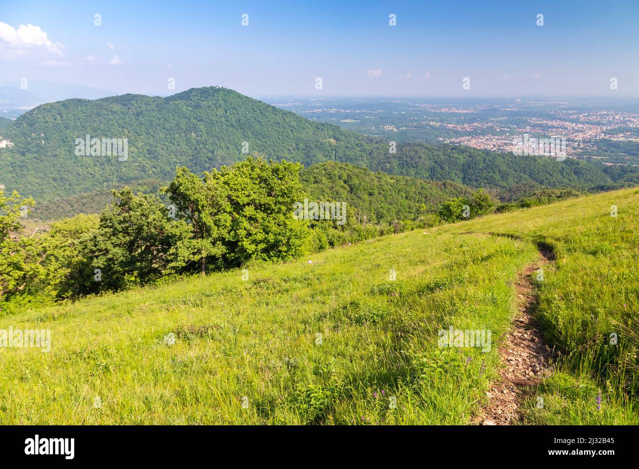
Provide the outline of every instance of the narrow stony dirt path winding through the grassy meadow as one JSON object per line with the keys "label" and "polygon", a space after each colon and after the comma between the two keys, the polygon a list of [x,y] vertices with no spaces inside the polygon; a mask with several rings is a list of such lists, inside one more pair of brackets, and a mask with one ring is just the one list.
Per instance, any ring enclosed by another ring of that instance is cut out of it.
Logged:
{"label": "narrow stony dirt path winding through the grassy meadow", "polygon": [[500,379],[486,393],[488,405],[475,419],[477,424],[511,425],[520,421],[518,409],[527,387],[539,383],[548,368],[550,350],[534,318],[537,294],[530,276],[538,275],[535,272],[554,260],[554,255],[544,246],[539,247],[539,253],[541,259],[528,265],[515,280],[519,311],[511,330],[502,336],[499,350],[505,366],[499,371]]}

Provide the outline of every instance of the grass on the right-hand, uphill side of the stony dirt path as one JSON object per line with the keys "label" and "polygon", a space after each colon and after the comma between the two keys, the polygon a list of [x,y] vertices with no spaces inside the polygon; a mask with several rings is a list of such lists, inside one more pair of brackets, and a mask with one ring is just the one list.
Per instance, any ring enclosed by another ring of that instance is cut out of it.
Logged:
{"label": "grass on the right-hand, uphill side of the stony dirt path", "polygon": [[472,230],[530,239],[557,257],[537,282],[537,317],[560,358],[525,422],[639,424],[639,190],[489,216]]}

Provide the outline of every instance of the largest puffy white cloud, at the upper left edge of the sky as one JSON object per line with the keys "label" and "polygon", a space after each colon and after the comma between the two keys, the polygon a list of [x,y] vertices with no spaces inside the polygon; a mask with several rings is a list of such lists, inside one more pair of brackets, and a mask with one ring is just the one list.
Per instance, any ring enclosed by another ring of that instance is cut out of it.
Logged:
{"label": "largest puffy white cloud, at the upper left edge of the sky", "polygon": [[21,24],[18,29],[0,21],[0,56],[8,58],[33,58],[42,56],[63,57],[65,46],[53,42],[40,26]]}

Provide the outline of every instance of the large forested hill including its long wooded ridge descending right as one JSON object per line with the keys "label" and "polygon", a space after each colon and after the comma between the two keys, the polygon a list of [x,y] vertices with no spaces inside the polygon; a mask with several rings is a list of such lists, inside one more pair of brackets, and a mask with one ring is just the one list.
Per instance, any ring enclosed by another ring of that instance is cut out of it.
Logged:
{"label": "large forested hill including its long wooded ridge descending right", "polygon": [[[127,138],[126,161],[118,156],[78,156],[75,140],[86,135]],[[194,88],[167,98],[125,94],[47,103],[2,128],[0,139],[13,144],[0,149],[0,184],[36,200],[130,181],[169,181],[178,165],[201,172],[243,160],[247,153],[300,161],[306,167],[342,161],[474,187],[508,188],[535,181],[586,188],[635,177],[610,177],[594,163],[448,145],[398,144],[397,153],[391,154],[389,142],[310,121],[221,87]]]}

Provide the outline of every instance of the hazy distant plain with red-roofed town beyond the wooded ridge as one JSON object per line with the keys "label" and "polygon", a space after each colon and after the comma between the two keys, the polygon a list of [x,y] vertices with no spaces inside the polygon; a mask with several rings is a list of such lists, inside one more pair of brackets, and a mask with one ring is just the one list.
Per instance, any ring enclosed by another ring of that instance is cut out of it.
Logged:
{"label": "hazy distant plain with red-roofed town beyond the wooded ridge", "polygon": [[512,152],[513,140],[565,138],[566,157],[639,165],[639,109],[621,101],[287,98],[265,101],[367,135]]}

